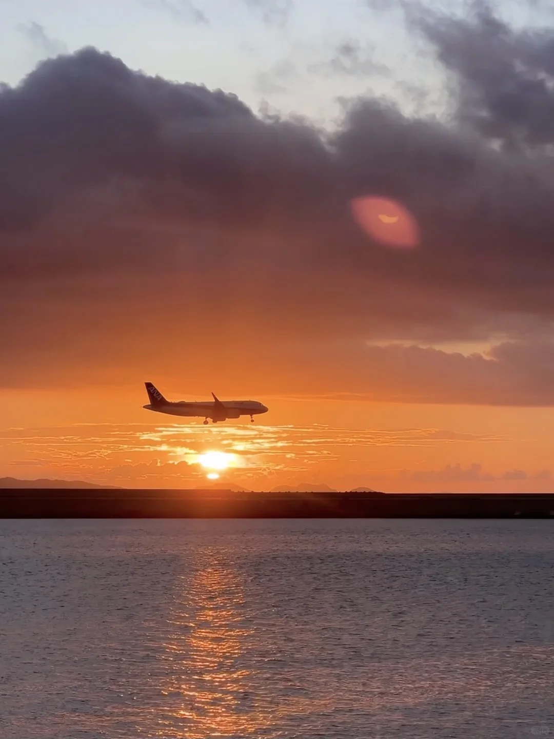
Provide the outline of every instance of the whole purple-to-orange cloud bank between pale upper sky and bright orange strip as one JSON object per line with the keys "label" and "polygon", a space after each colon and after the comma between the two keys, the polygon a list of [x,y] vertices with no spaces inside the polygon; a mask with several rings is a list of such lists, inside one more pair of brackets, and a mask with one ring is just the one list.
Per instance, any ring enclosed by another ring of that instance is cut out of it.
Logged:
{"label": "whole purple-to-orange cloud bank between pale upper sky and bright orange strip", "polygon": [[[553,403],[554,33],[484,3],[408,24],[451,75],[448,122],[365,98],[321,132],[94,49],[0,89],[0,385],[186,360],[197,389],[217,367],[263,392]],[[420,247],[361,233],[360,194],[408,207]]]}

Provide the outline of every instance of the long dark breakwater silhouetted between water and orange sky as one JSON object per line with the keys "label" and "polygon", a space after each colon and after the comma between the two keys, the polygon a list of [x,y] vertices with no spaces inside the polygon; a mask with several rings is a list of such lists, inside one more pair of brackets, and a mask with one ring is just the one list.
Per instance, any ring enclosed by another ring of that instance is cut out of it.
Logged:
{"label": "long dark breakwater silhouetted between water and orange sky", "polygon": [[554,494],[4,488],[0,518],[553,518]]}

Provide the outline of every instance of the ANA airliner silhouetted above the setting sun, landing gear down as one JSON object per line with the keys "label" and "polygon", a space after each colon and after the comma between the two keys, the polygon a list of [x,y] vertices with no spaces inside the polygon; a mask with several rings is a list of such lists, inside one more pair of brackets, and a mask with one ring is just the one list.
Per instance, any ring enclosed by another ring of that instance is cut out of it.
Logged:
{"label": "ANA airliner silhouetted above the setting sun, landing gear down", "polygon": [[227,420],[228,418],[239,418],[242,415],[249,415],[252,423],[254,416],[260,413],[267,413],[269,410],[258,401],[220,401],[212,392],[212,401],[207,403],[178,401],[166,401],[160,390],[154,387],[151,382],[145,382],[146,392],[150,403],[143,406],[148,411],[157,411],[158,413],[167,413],[168,415],[186,416],[188,418],[204,416],[204,423],[208,423],[211,418],[213,423],[219,420]]}

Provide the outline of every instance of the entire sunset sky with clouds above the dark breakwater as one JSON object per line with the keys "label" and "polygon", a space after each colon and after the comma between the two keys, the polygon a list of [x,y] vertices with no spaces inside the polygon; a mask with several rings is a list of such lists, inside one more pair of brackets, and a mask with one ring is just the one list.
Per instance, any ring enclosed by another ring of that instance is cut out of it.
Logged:
{"label": "entire sunset sky with clouds above the dark breakwater", "polygon": [[552,8],[0,0],[0,258],[0,477],[550,491]]}

